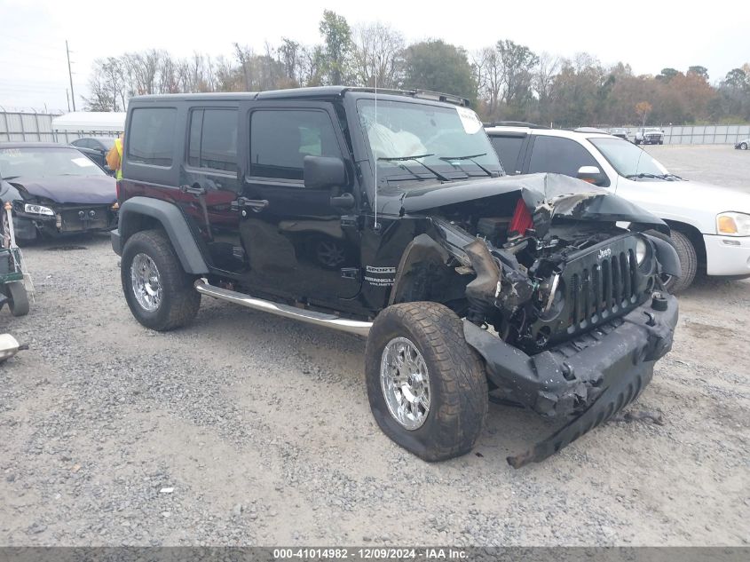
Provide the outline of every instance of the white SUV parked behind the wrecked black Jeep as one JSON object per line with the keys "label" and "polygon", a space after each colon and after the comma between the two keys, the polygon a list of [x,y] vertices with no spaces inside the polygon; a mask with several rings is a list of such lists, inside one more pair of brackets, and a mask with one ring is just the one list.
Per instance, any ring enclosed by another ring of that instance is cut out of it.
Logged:
{"label": "white SUV parked behind the wrecked black Jeep", "polygon": [[683,269],[679,280],[669,281],[673,292],[688,287],[699,271],[750,277],[750,194],[679,178],[640,147],[604,131],[486,131],[509,174],[557,172],[585,179],[666,221]]}

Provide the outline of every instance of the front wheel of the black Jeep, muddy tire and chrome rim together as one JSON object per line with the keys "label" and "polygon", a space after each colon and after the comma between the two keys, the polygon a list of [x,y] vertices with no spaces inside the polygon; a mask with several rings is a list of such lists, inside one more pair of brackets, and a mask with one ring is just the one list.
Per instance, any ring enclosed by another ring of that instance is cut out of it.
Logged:
{"label": "front wheel of the black Jeep, muddy tire and chrome rim together", "polygon": [[450,309],[389,306],[375,318],[365,360],[370,408],[388,437],[425,461],[471,450],[487,412],[486,374]]}

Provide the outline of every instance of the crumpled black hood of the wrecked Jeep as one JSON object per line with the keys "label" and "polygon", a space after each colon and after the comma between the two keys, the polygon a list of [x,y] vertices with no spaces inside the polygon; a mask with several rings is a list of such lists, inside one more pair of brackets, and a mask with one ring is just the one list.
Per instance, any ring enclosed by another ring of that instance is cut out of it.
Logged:
{"label": "crumpled black hood of the wrecked Jeep", "polygon": [[383,214],[418,213],[493,195],[520,192],[534,225],[556,217],[606,222],[635,222],[665,230],[665,223],[603,187],[562,174],[528,174],[455,181],[433,186],[389,186],[378,192]]}

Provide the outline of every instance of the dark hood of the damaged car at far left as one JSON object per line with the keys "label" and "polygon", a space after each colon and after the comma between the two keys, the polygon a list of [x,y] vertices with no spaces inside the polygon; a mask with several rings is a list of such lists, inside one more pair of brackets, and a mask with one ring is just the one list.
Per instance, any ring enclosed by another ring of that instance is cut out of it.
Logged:
{"label": "dark hood of the damaged car at far left", "polygon": [[110,176],[48,176],[6,180],[28,194],[57,203],[114,203],[115,180]]}

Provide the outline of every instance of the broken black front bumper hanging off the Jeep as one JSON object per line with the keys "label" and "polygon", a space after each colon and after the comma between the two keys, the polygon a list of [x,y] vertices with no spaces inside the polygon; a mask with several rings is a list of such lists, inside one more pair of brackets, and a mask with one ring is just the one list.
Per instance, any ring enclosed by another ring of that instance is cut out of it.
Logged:
{"label": "broken black front bumper hanging off the Jeep", "polygon": [[518,468],[553,455],[628,405],[649,384],[654,363],[672,348],[677,300],[656,297],[564,344],[529,356],[464,321],[466,341],[486,362],[487,376],[509,400],[541,416],[573,416],[522,455]]}

